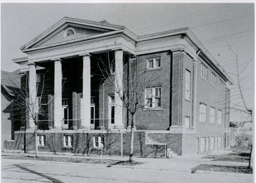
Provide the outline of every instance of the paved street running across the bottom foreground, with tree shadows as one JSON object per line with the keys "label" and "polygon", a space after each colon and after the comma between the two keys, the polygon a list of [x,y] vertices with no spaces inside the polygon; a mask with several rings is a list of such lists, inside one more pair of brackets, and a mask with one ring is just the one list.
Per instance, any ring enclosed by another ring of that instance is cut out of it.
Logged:
{"label": "paved street running across the bottom foreground, with tree shadows", "polygon": [[[153,167],[152,167],[153,168]],[[252,182],[252,175],[241,173],[190,173],[132,169],[80,163],[59,163],[34,160],[2,159],[3,183],[40,182]]]}

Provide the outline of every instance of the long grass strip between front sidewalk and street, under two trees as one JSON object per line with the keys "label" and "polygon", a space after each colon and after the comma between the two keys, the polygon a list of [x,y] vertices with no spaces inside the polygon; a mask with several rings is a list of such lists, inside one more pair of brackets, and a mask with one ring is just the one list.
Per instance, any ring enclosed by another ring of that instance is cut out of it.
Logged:
{"label": "long grass strip between front sidewalk and street, under two trees", "polygon": [[[22,160],[55,161],[55,162],[68,162],[68,163],[101,164],[100,159],[68,158],[68,157],[35,157],[35,156],[2,155],[2,159],[22,159]],[[145,163],[145,162],[138,162],[138,161],[129,162],[129,161],[102,159],[102,164],[108,164],[108,165],[134,166],[134,165],[143,164],[143,163]]]}

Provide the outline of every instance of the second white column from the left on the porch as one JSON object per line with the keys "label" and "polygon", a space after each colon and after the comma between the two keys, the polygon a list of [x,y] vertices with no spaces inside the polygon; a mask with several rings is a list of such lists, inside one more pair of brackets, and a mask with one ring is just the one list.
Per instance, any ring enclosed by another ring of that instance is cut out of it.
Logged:
{"label": "second white column from the left on the porch", "polygon": [[62,118],[62,75],[61,60],[54,60],[54,128],[61,129]]}

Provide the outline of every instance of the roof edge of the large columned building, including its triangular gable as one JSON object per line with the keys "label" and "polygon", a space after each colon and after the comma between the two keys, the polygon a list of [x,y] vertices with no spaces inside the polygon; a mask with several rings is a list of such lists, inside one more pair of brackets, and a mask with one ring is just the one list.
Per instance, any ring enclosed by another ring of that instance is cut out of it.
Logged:
{"label": "roof edge of the large columned building, including its triangular gable", "polygon": [[[61,39],[62,40],[61,42],[55,42],[55,43],[48,42],[48,44],[44,45],[44,42],[52,38],[52,36],[60,33],[61,30],[67,28],[68,26],[94,29],[94,30],[102,31],[102,33],[95,34],[95,35],[85,35],[84,37],[79,37],[72,40]],[[58,21],[56,24],[54,24],[52,27],[48,28],[42,34],[37,36],[35,39],[31,40],[30,42],[22,46],[20,49],[22,52],[26,53],[29,51],[48,49],[51,47],[63,46],[65,44],[97,39],[100,37],[110,36],[114,34],[124,34],[134,42],[143,42],[147,40],[153,40],[153,39],[158,39],[158,38],[163,38],[163,37],[168,37],[168,36],[173,36],[178,34],[185,34],[188,36],[189,40],[191,40],[191,42],[195,45],[195,47],[198,50],[201,50],[200,56],[204,57],[204,59],[206,60],[210,60],[209,63],[211,64],[211,66],[221,75],[221,77],[224,78],[225,81],[228,81],[230,84],[232,84],[233,82],[231,78],[228,76],[227,72],[225,72],[225,70],[218,64],[218,62],[214,59],[214,57],[210,54],[210,52],[204,47],[204,45],[199,41],[199,39],[191,32],[191,30],[188,27],[138,36],[132,33],[126,27],[109,24],[106,20],[96,22],[96,21],[64,17],[63,19]],[[22,61],[25,61],[25,60],[24,58],[18,58],[18,59],[13,59],[13,61],[15,63],[21,63]]]}

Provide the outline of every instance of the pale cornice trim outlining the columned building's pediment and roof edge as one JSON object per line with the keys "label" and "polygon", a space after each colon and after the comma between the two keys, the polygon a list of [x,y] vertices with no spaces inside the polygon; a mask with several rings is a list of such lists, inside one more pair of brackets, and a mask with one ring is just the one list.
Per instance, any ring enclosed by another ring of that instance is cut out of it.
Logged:
{"label": "pale cornice trim outlining the columned building's pediment and roof edge", "polygon": [[[92,36],[88,36],[88,37],[84,37],[84,38],[78,38],[75,40],[69,40],[69,41],[65,41],[65,42],[59,42],[59,43],[54,43],[54,44],[50,44],[50,45],[45,45],[45,46],[41,46],[41,47],[37,47],[37,48],[26,49],[26,47],[28,48],[29,46],[31,46],[31,44],[39,42],[40,40],[44,39],[48,35],[52,34],[54,31],[58,30],[61,26],[65,25],[66,23],[86,24],[86,26],[92,26],[92,27],[95,27],[95,25],[97,25],[100,28],[106,28],[106,29],[110,29],[113,31],[103,33],[103,34],[92,35]],[[168,37],[168,36],[173,36],[173,35],[186,34],[188,39],[190,39],[190,41],[195,45],[195,47],[197,47],[198,50],[201,50],[200,54],[201,55],[203,54],[204,57],[206,57],[208,60],[210,60],[212,65],[215,67],[215,69],[217,69],[220,73],[222,73],[223,76],[226,78],[226,80],[229,81],[230,84],[233,84],[233,81],[231,81],[231,78],[228,76],[228,74],[225,72],[225,70],[218,64],[218,62],[215,60],[215,58],[210,54],[210,52],[204,47],[204,45],[200,42],[200,40],[196,37],[196,35],[191,32],[191,30],[188,27],[137,36],[136,34],[132,33],[130,30],[128,30],[124,26],[96,22],[96,21],[83,20],[83,19],[75,19],[75,18],[70,18],[70,17],[64,17],[63,19],[58,21],[56,24],[54,24],[52,27],[48,28],[42,34],[40,34],[39,36],[34,38],[32,41],[30,41],[26,45],[22,46],[20,48],[20,50],[22,50],[22,52],[41,50],[41,49],[50,48],[50,47],[54,47],[54,46],[60,46],[60,45],[64,45],[64,44],[80,42],[80,41],[85,41],[85,40],[89,40],[89,39],[96,39],[99,37],[105,37],[105,36],[120,34],[120,33],[128,36],[131,40],[133,40],[135,42],[142,42],[142,41],[158,39],[158,38],[163,38],[163,37]],[[16,58],[16,59],[12,59],[12,60],[14,63],[20,63],[20,62],[28,61],[27,59],[28,59],[28,57],[23,57],[23,58]]]}

